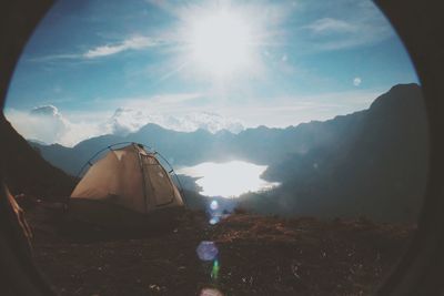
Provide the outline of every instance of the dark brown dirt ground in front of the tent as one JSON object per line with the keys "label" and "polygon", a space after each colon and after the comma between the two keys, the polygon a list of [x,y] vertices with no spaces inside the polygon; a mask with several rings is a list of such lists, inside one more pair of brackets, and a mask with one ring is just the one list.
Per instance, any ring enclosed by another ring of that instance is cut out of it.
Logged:
{"label": "dark brown dirt ground in front of the tent", "polygon": [[[210,225],[186,212],[163,234],[74,238],[51,211],[27,216],[36,262],[60,295],[369,295],[414,231],[246,213]],[[196,252],[203,241],[212,242],[206,262]]]}

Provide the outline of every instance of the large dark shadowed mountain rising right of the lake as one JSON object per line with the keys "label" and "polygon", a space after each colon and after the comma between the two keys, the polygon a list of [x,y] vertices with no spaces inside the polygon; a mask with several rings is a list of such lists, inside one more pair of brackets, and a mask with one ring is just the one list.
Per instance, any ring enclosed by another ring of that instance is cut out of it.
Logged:
{"label": "large dark shadowed mountain rising right of the lake", "polygon": [[421,89],[396,85],[360,114],[353,134],[305,155],[293,154],[264,173],[282,185],[242,206],[261,213],[365,215],[415,221],[427,175],[427,122]]}

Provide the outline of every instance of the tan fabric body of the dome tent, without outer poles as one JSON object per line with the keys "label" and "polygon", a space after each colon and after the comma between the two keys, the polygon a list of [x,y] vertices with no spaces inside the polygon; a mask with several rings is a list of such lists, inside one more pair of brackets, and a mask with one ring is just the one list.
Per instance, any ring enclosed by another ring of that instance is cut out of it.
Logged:
{"label": "tan fabric body of the dome tent, without outer poles", "polygon": [[182,196],[153,153],[138,144],[111,150],[93,164],[71,194],[142,214],[183,206]]}

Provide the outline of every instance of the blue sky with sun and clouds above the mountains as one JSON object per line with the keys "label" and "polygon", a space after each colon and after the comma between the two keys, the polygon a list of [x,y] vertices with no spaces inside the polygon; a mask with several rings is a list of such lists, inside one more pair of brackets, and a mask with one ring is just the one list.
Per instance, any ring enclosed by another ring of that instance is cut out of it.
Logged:
{"label": "blue sky with sun and clouds above the mountains", "polygon": [[61,0],[28,42],[4,113],[27,139],[72,146],[149,122],[240,132],[327,120],[412,82],[367,0]]}

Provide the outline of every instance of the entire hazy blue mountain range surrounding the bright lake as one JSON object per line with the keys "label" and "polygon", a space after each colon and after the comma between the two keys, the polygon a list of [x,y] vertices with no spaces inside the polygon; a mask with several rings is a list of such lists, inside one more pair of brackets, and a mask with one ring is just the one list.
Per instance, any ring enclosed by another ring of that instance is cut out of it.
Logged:
{"label": "entire hazy blue mountain range surrounding the bright lake", "polygon": [[268,165],[263,177],[281,183],[242,196],[248,210],[412,221],[425,191],[427,141],[421,88],[398,84],[367,110],[286,129],[210,133],[147,124],[134,133],[97,136],[73,147],[30,143],[71,175],[97,151],[119,142],[152,146],[174,166],[243,160]]}

